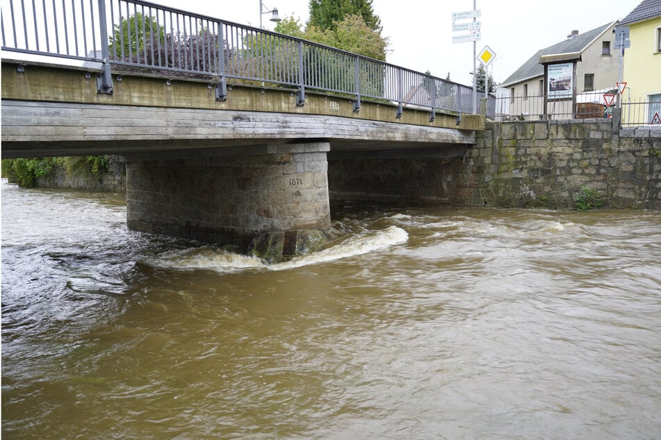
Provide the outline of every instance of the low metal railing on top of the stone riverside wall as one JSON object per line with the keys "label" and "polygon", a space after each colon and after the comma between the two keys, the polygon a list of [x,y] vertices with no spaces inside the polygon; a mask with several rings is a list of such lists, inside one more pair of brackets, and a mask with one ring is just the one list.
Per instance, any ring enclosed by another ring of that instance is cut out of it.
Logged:
{"label": "low metal railing on top of the stone riverside wall", "polygon": [[[616,94],[617,90],[612,91]],[[546,96],[496,96],[489,97],[489,109],[495,108],[493,116],[489,117],[498,121],[546,121],[566,119],[593,119],[612,117],[612,108],[617,105],[614,99],[613,105],[606,106],[603,91],[584,92],[576,95],[576,103],[573,99],[557,100],[546,99]],[[493,104],[491,104],[493,101]],[[544,103],[546,102],[546,111]],[[622,126],[661,126],[659,118],[661,115],[661,103],[650,101],[631,101],[623,99]]]}

